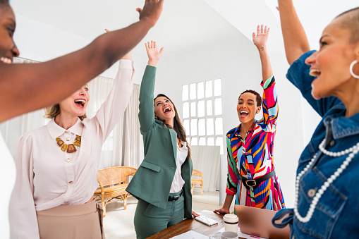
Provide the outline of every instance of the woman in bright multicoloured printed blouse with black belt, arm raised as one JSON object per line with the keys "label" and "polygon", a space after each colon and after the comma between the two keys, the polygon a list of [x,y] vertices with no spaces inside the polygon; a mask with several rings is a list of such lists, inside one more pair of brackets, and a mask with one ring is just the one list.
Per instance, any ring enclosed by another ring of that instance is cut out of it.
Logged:
{"label": "woman in bright multicoloured printed blouse with black belt, arm raised", "polygon": [[285,207],[279,180],[274,171],[273,144],[276,134],[278,103],[276,82],[269,62],[266,42],[269,28],[258,25],[253,32],[253,43],[262,63],[263,118],[260,113],[262,99],[254,90],[245,90],[238,98],[237,113],[241,122],[227,133],[228,176],[226,200],[221,209],[228,214],[233,197],[236,204],[262,209],[280,210]]}

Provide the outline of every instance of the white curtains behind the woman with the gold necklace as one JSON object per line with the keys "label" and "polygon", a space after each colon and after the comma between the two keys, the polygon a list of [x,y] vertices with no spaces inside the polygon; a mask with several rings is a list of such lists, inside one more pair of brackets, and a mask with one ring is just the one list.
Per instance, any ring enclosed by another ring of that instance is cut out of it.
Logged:
{"label": "white curtains behind the woman with the gold necklace", "polygon": [[[14,59],[14,63],[35,63],[27,59]],[[90,101],[87,106],[87,117],[95,116],[96,111],[107,99],[114,79],[98,76],[89,82]],[[133,94],[125,111],[114,130],[110,133],[102,147],[100,168],[111,166],[140,165],[141,140],[140,123],[138,122],[138,96],[140,85],[134,85]],[[46,125],[49,119],[44,118],[44,110],[24,114],[0,124],[0,130],[13,157],[20,137],[30,130]]]}

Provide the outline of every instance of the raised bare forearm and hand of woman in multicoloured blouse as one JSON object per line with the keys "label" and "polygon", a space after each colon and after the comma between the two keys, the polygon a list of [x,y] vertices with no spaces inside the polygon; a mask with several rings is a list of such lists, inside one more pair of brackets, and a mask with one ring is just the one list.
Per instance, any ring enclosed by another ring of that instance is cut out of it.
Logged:
{"label": "raised bare forearm and hand of woman in multicoloured blouse", "polygon": [[260,53],[260,62],[262,64],[262,80],[263,83],[273,75],[272,66],[269,62],[269,56],[267,51],[267,39],[269,36],[269,27],[264,27],[263,25],[257,26],[257,35],[253,32],[252,38],[255,47],[257,47],[258,52]]}

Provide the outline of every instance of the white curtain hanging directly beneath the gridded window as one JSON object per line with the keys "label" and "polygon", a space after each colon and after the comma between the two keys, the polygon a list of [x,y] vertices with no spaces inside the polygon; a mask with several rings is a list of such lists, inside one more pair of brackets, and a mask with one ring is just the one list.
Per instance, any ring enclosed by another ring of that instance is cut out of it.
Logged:
{"label": "white curtain hanging directly beneath the gridded window", "polygon": [[220,147],[191,145],[190,151],[193,169],[203,173],[203,190],[219,191]]}

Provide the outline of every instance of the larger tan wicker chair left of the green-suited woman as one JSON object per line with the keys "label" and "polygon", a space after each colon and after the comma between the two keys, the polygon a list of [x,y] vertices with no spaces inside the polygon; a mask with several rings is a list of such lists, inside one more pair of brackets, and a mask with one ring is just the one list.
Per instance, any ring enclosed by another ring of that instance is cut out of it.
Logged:
{"label": "larger tan wicker chair left of the green-suited woman", "polygon": [[110,202],[123,200],[123,209],[126,209],[126,200],[131,195],[126,192],[128,183],[126,178],[135,175],[137,169],[128,166],[115,166],[101,168],[97,171],[97,182],[99,189],[95,191],[96,200],[101,200],[104,216],[106,216],[106,205]]}

